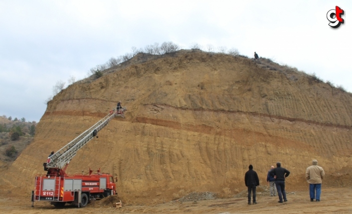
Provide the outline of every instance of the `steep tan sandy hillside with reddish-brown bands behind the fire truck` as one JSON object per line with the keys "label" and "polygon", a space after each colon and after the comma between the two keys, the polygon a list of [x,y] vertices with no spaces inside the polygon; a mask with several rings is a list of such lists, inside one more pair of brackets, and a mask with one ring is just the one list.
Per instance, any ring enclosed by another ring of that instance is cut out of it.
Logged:
{"label": "steep tan sandy hillside with reddish-brown bands behind the fire truck", "polygon": [[230,196],[243,190],[249,164],[265,185],[277,161],[291,171],[288,188],[301,189],[312,159],[325,168],[326,184],[350,185],[351,94],[302,72],[271,71],[241,57],[185,51],[144,57],[56,95],[34,143],[1,177],[2,192],[20,188],[29,194],[50,151],[119,100],[128,108],[126,118],[111,121],[67,172],[101,167],[118,178],[121,196],[151,203],[191,191]]}

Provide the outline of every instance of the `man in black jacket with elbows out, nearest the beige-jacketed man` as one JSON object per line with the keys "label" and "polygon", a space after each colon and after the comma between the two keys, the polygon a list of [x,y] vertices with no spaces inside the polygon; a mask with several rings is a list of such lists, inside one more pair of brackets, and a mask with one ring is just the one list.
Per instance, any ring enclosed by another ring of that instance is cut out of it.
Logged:
{"label": "man in black jacket with elbows out, nearest the beige-jacketed man", "polygon": [[290,175],[290,171],[282,168],[281,163],[276,163],[276,168],[271,171],[272,175],[275,178],[276,189],[279,195],[279,203],[283,203],[282,198],[284,198],[284,202],[287,202],[286,191],[285,191],[285,178]]}

